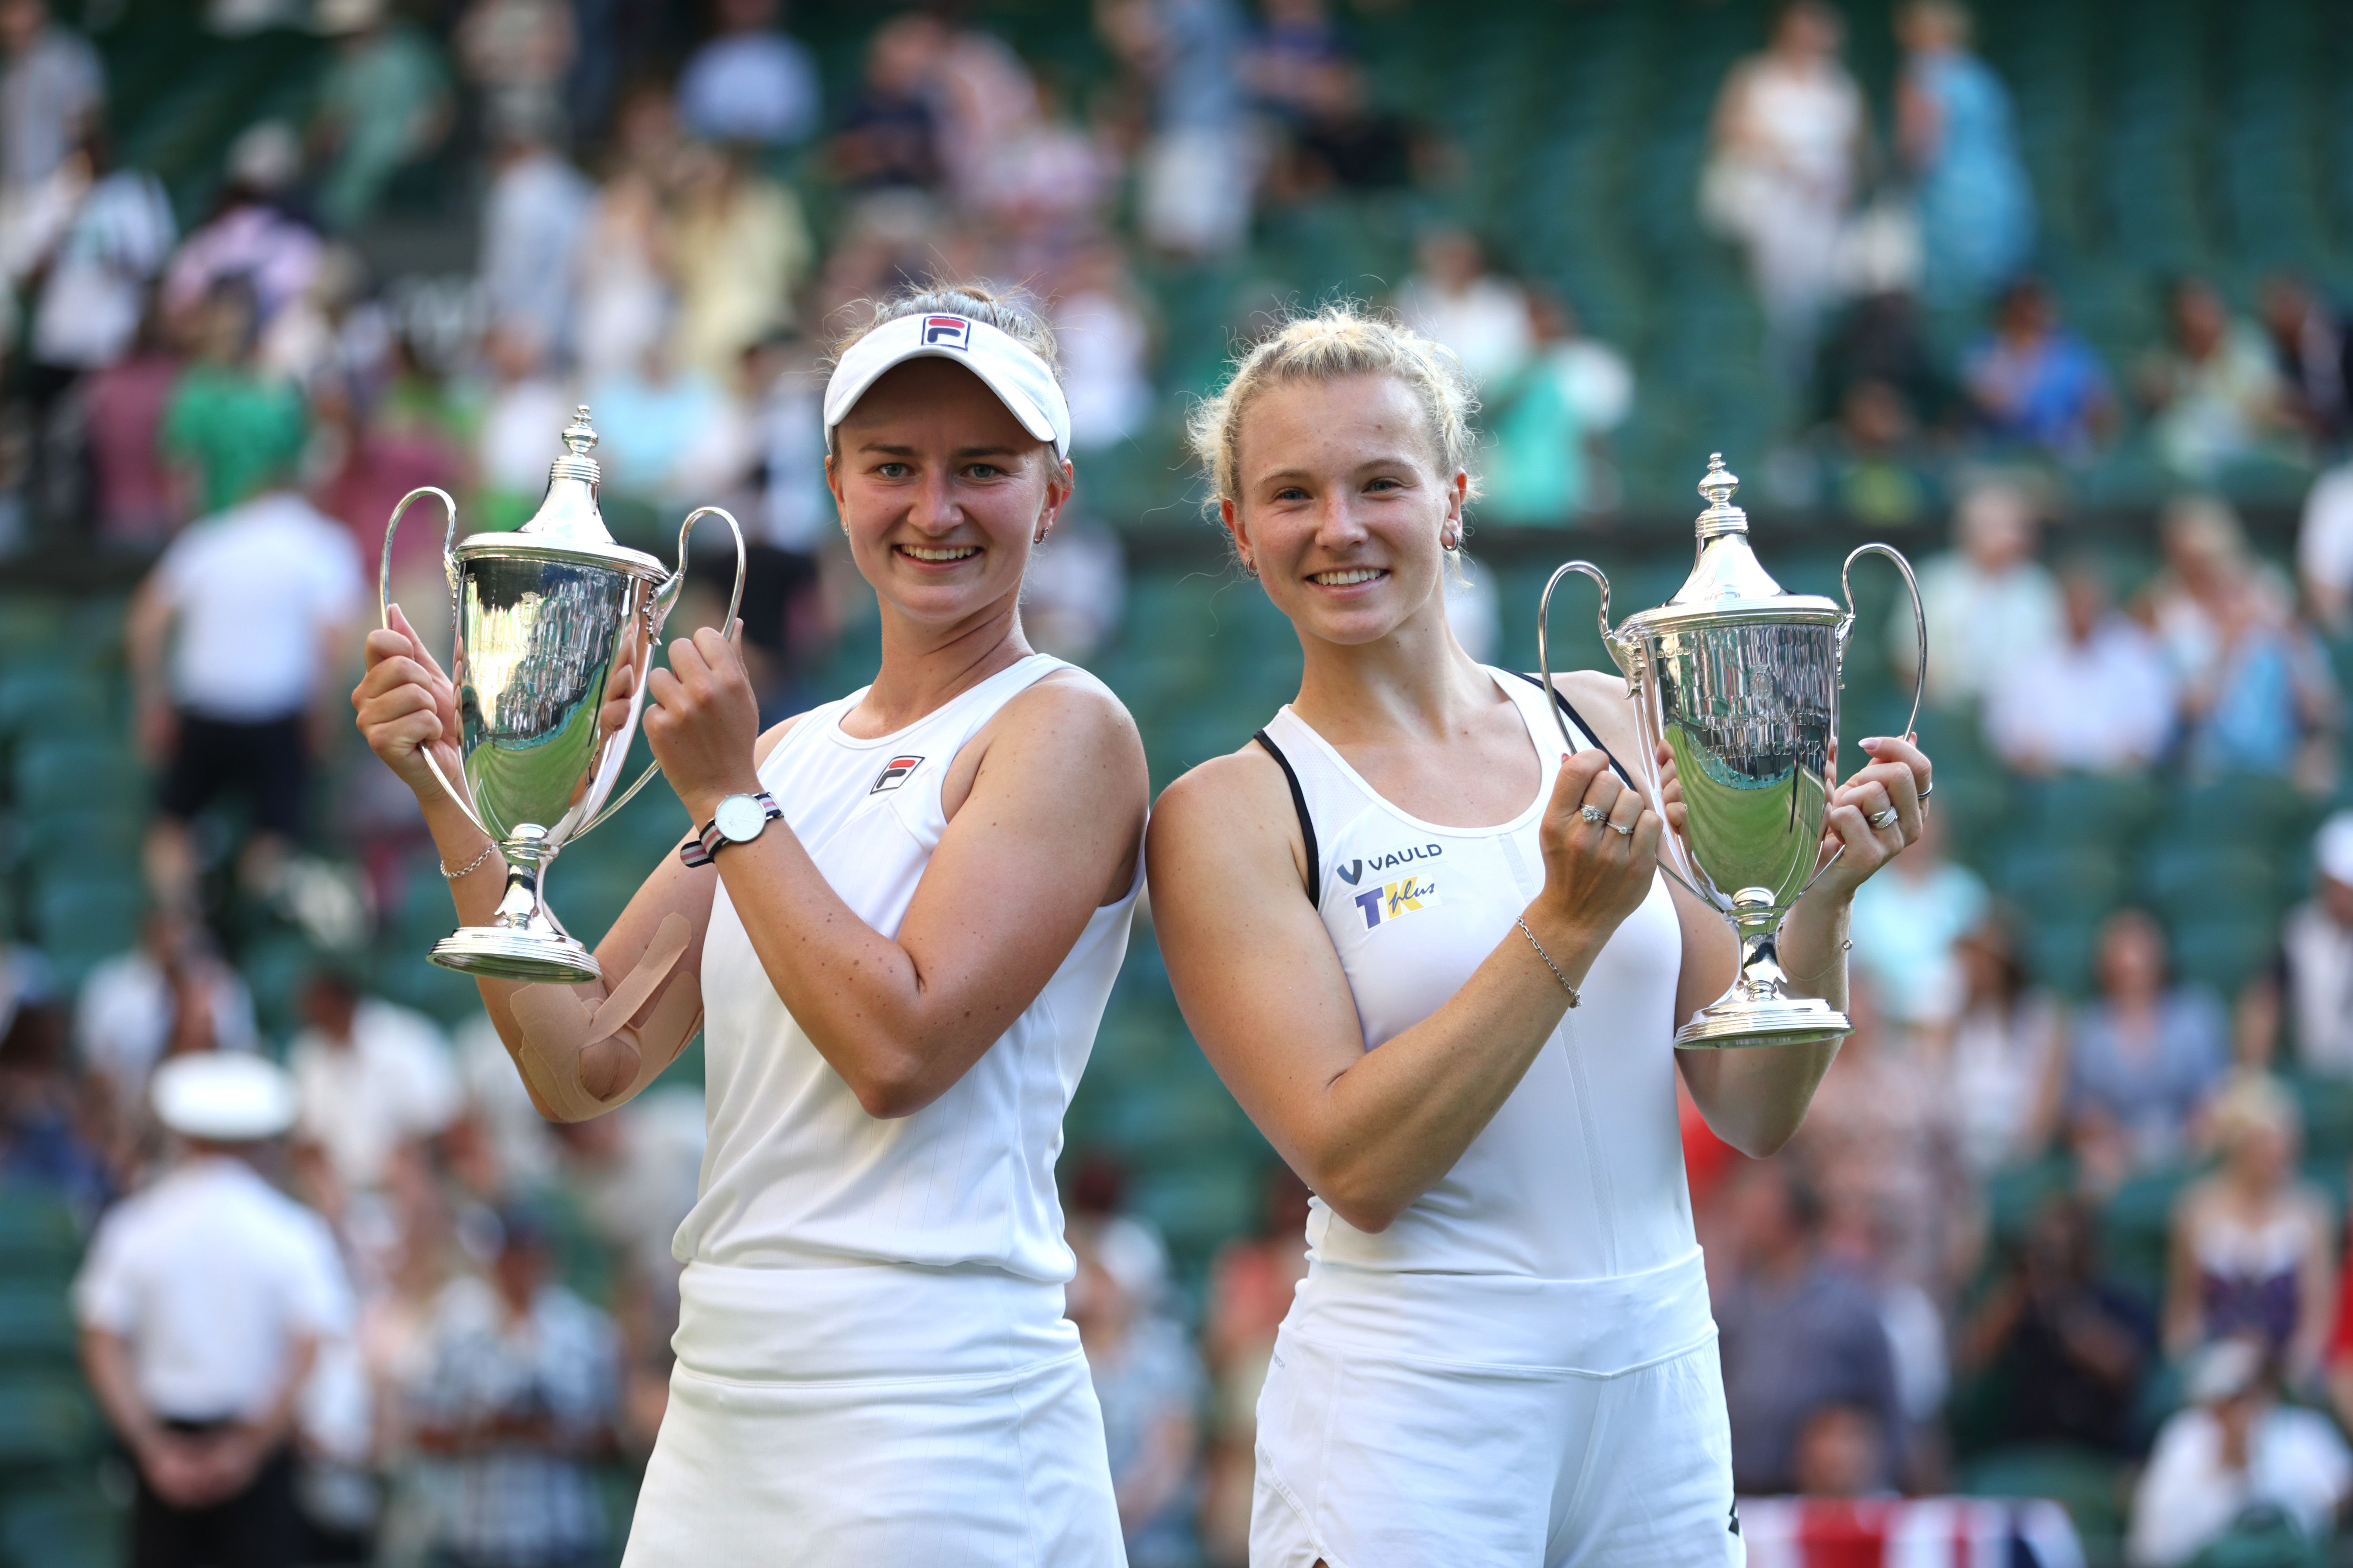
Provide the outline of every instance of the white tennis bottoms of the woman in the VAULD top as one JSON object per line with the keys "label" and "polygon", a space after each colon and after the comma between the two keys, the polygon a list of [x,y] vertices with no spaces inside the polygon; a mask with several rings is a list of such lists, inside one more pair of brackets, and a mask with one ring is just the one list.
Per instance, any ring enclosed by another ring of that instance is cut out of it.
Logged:
{"label": "white tennis bottoms of the woman in the VAULD top", "polygon": [[1252,1568],[1746,1561],[1706,1274],[1318,1267],[1259,1394]]}

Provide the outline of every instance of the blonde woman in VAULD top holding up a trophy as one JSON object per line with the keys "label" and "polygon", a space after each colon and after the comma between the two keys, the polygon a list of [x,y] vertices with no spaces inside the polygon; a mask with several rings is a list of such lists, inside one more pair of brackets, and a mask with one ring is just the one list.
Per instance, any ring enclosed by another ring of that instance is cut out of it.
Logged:
{"label": "blonde woman in VAULD top holding up a trophy", "polygon": [[[1866,741],[1835,783],[1819,703],[1739,729],[1800,736],[1795,771],[1744,776],[1755,757],[1685,729],[1654,759],[1628,682],[1548,691],[1473,663],[1442,592],[1471,409],[1433,343],[1327,306],[1193,421],[1233,548],[1306,654],[1249,745],[1160,797],[1148,846],[1186,1020],[1315,1192],[1259,1401],[1252,1563],[1734,1563],[1675,1070],[1739,1150],[1791,1138],[1845,1032],[1852,893],[1918,837],[1929,764]],[[1720,672],[1760,705],[1819,698],[1812,668]],[[1675,764],[1708,769],[1689,802]],[[1720,882],[1666,853],[1718,820],[1718,773],[1769,783],[1746,832],[1802,856],[1772,889],[1734,882],[1727,903],[1777,917],[1746,950],[1661,875]],[[1678,1020],[1711,1016],[1718,1037],[1687,1044],[1779,1044],[1678,1053]]]}

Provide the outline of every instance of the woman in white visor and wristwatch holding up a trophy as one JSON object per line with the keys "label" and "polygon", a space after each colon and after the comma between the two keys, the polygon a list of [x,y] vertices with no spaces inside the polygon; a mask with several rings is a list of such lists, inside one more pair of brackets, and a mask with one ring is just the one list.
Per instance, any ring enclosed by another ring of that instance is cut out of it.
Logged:
{"label": "woman in white visor and wristwatch holding up a trophy", "polygon": [[[496,639],[466,632],[454,682],[393,609],[367,639],[360,729],[416,790],[468,922],[435,957],[485,976],[541,1110],[602,1114],[706,1027],[711,1145],[633,1568],[1122,1561],[1054,1157],[1144,884],[1148,776],[1118,698],[1021,635],[1024,569],[1073,484],[1052,353],[979,289],[906,294],[842,343],[826,470],[880,670],[758,733],[729,637],[673,642],[645,677],[624,646],[600,724],[626,748],[642,679],[699,832],[593,954],[562,957],[515,867],[581,804],[518,827],[485,788],[515,778],[480,762],[513,705],[480,691]],[[518,545],[454,548],[461,628],[508,614],[468,564],[494,548]],[[487,978],[522,961],[600,978]]]}

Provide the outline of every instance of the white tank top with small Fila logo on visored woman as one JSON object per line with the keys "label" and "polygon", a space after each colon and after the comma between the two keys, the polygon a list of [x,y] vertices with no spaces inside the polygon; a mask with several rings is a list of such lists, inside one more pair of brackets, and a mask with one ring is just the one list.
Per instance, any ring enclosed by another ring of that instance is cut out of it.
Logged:
{"label": "white tank top with small Fila logo on visored woman", "polygon": [[[948,827],[939,783],[955,755],[1005,703],[1068,668],[1033,654],[878,741],[842,733],[842,715],[866,696],[856,691],[802,717],[760,764],[760,785],[842,903],[896,936]],[[1136,884],[1087,919],[1038,999],[948,1093],[880,1121],[793,1023],[722,882],[701,971],[711,1143],[675,1255],[727,1267],[981,1265],[1068,1281],[1054,1197],[1061,1117],[1127,957],[1141,884],[1139,865]]]}

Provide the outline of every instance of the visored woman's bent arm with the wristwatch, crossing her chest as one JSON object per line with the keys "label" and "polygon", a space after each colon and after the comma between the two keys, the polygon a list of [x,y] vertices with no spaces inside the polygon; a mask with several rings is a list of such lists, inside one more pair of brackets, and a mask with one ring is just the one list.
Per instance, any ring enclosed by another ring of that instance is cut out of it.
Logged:
{"label": "visored woman's bent arm with the wristwatch, crossing her chest", "polygon": [[[713,630],[671,644],[645,736],[696,823],[758,790],[751,682]],[[948,830],[899,933],[842,903],[784,823],[718,853],[718,875],[793,1020],[873,1117],[944,1095],[1038,999],[1094,910],[1134,882],[1151,776],[1134,719],[1047,677],[958,752]]]}

